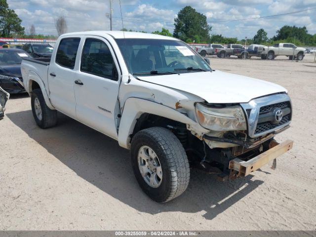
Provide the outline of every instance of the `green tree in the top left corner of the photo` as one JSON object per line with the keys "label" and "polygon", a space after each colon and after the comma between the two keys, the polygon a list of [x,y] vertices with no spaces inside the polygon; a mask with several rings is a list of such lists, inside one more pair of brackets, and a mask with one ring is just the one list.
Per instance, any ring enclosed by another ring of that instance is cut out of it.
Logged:
{"label": "green tree in the top left corner of the photo", "polygon": [[0,34],[1,37],[19,37],[24,35],[24,27],[21,26],[22,20],[9,9],[6,0],[0,0]]}

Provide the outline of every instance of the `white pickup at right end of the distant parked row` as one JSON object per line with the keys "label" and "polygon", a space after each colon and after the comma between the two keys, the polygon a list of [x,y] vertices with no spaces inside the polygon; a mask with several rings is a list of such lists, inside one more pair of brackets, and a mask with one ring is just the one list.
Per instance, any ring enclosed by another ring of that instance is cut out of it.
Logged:
{"label": "white pickup at right end of the distant parked row", "polygon": [[[305,56],[305,48],[297,47],[293,43],[276,43],[273,46],[259,47],[258,52],[261,52],[262,59],[275,59],[276,56],[284,55],[289,60],[303,60]],[[294,58],[293,58],[294,57]]]}

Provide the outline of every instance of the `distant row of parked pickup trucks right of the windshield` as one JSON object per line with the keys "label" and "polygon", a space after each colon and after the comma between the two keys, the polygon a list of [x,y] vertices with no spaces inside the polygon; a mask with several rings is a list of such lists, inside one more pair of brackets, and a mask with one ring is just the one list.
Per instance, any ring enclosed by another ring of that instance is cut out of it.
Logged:
{"label": "distant row of parked pickup trucks right of the windshield", "polygon": [[203,57],[206,55],[217,55],[220,58],[230,57],[232,55],[238,58],[261,57],[261,59],[275,59],[276,56],[284,55],[289,60],[303,60],[307,50],[297,47],[292,43],[276,43],[273,46],[265,46],[261,44],[251,44],[243,47],[241,44],[222,44],[211,43],[209,45],[196,46],[195,50]]}

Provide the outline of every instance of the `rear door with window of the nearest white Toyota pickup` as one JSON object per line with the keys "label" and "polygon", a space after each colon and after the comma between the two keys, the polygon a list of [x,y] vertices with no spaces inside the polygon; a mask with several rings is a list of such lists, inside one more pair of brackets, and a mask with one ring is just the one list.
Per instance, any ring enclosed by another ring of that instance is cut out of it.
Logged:
{"label": "rear door with window of the nearest white Toyota pickup", "polygon": [[[80,38],[63,38],[58,44],[48,67],[49,97],[52,105],[60,112],[76,118],[74,80]],[[78,62],[79,63],[79,62]]]}

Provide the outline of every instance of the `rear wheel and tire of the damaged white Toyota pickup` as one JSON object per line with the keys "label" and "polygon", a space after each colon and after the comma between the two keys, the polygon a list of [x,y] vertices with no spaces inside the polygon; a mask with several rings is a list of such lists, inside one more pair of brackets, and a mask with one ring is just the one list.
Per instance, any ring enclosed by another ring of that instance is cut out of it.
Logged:
{"label": "rear wheel and tire of the damaged white Toyota pickup", "polygon": [[47,107],[40,89],[32,91],[31,106],[33,117],[40,128],[48,128],[56,125],[57,111]]}

